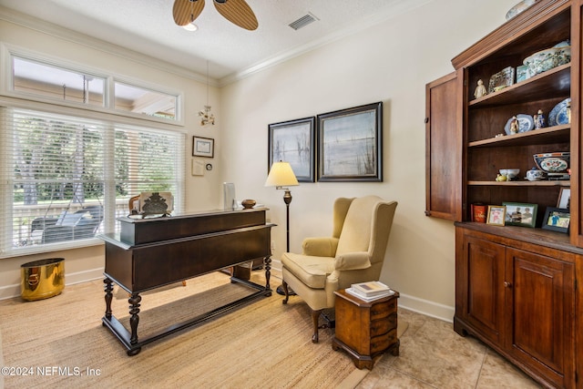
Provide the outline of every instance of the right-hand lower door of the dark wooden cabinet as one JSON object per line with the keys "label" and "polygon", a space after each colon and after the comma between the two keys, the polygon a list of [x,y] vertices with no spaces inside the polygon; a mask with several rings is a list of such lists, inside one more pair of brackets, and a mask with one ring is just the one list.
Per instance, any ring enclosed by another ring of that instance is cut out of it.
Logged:
{"label": "right-hand lower door of the dark wooden cabinet", "polygon": [[506,249],[506,350],[560,386],[575,374],[574,267]]}

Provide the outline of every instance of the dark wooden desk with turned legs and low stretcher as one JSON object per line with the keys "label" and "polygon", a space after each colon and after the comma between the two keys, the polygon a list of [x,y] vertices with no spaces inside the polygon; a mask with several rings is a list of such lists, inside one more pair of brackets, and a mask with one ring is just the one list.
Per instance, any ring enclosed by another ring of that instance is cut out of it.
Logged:
{"label": "dark wooden desk with turned legs and low stretcher", "polygon": [[[260,296],[271,296],[271,227],[266,209],[200,212],[157,219],[120,218],[120,234],[100,236],[106,242],[103,325],[136,355],[142,345],[208,320]],[[231,277],[257,292],[193,318],[145,340],[138,340],[140,292],[180,282],[212,271],[263,259],[266,284]],[[129,332],[111,312],[112,283],[130,294]]]}

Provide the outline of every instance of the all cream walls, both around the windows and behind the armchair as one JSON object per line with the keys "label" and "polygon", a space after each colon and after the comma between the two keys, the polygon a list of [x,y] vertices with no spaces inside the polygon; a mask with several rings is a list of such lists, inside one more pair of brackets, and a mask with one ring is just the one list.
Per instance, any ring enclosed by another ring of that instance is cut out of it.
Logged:
{"label": "all cream walls, both around the windows and behind the armchair", "polygon": [[[194,134],[215,138],[214,169],[203,178],[189,176],[187,142],[187,209],[216,208],[222,200],[221,183],[234,182],[239,200],[265,204],[271,221],[279,225],[272,236],[274,266],[285,249],[285,208],[283,192],[263,186],[268,124],[383,101],[384,181],[293,187],[291,250],[300,251],[306,236],[330,234],[332,201],[337,197],[377,194],[397,200],[381,280],[401,292],[401,305],[450,321],[455,303],[454,227],[450,221],[424,216],[424,86],[453,71],[451,58],[504,23],[506,11],[516,3],[433,0],[220,91],[211,87],[210,104],[217,116],[213,128],[200,128],[196,116],[206,104],[204,83],[108,54],[95,45],[80,45],[77,39],[42,33],[42,28],[0,20],[0,36],[15,46],[77,63],[91,58],[92,67],[185,90],[189,139]],[[42,257],[53,256],[66,258],[67,283],[100,277],[102,246]],[[0,260],[0,298],[17,294],[20,264],[38,257]]]}

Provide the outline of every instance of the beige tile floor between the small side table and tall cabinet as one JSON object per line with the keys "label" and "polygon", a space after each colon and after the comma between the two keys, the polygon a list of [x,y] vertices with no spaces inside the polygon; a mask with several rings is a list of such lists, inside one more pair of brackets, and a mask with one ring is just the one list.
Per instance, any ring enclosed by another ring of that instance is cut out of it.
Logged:
{"label": "beige tile floor between the small side table and tall cabinet", "polygon": [[409,323],[400,355],[384,354],[357,389],[380,388],[540,388],[513,364],[453,324],[399,308]]}

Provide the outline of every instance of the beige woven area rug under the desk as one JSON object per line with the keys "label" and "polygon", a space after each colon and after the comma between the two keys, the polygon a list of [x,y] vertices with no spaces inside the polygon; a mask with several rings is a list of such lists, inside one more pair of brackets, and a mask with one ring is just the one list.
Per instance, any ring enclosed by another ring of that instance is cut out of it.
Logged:
{"label": "beige woven area rug under the desk", "polygon": [[[253,277],[261,283],[261,274]],[[145,339],[251,292],[215,272],[186,287],[143,293],[138,336]],[[128,328],[127,299],[128,293],[114,290],[113,313]],[[38,302],[0,302],[5,366],[26,367],[5,376],[5,387],[350,388],[368,373],[332,350],[332,330],[321,330],[320,343],[312,343],[312,319],[298,297],[283,305],[273,292],[148,343],[133,357],[102,326],[104,311],[100,281],[67,286]]]}

